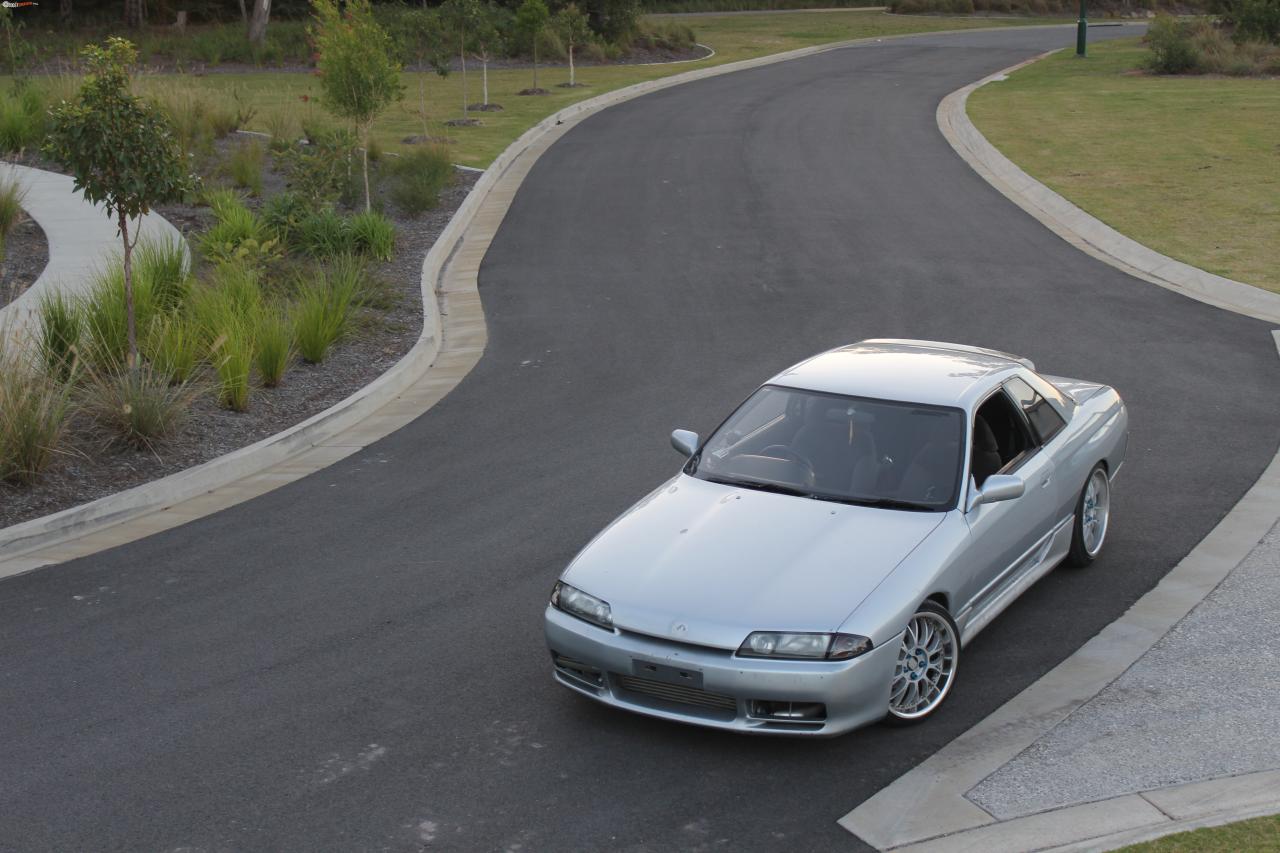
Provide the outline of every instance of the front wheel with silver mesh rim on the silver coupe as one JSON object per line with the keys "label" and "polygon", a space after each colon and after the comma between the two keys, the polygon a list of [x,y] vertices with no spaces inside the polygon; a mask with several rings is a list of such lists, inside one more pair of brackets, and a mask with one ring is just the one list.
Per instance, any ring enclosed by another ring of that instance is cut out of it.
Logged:
{"label": "front wheel with silver mesh rim on the silver coupe", "polygon": [[959,663],[960,630],[955,620],[937,602],[924,602],[902,634],[884,722],[915,725],[933,716],[951,694]]}

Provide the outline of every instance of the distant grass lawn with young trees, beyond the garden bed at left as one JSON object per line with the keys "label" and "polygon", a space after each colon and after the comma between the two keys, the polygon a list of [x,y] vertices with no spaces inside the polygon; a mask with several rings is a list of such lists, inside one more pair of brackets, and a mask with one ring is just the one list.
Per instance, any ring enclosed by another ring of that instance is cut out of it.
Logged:
{"label": "distant grass lawn with young trees, beyond the garden bed at left", "polygon": [[[434,73],[406,73],[404,100],[388,110],[379,120],[375,136],[384,149],[396,150],[401,147],[399,142],[403,137],[422,133],[422,120],[419,111],[420,78],[426,81],[426,113],[430,118],[430,136],[447,136],[452,140],[449,149],[456,163],[485,167],[516,137],[556,110],[632,83],[668,77],[704,65],[719,65],[849,38],[1052,23],[1052,20],[1042,18],[997,20],[989,18],[904,17],[849,9],[817,13],[709,15],[691,18],[689,23],[694,27],[700,42],[716,49],[714,58],[701,63],[673,65],[580,68],[577,79],[580,83],[585,83],[580,88],[558,88],[556,86],[556,83],[568,79],[567,68],[541,68],[539,86],[553,92],[541,96],[516,95],[517,91],[532,86],[531,70],[490,70],[489,100],[500,104],[504,109],[500,113],[472,114],[481,119],[483,126],[480,127],[449,128],[443,124],[444,119],[461,115],[462,76],[458,72],[443,79]],[[256,117],[246,126],[247,129],[269,131],[269,115],[273,113],[291,114],[293,120],[301,120],[307,117],[307,113],[311,113],[316,123],[332,122],[332,119],[326,119],[324,110],[316,101],[320,95],[319,81],[305,73],[210,73],[204,77],[152,74],[140,78],[140,83],[143,90],[182,86],[210,91],[219,97],[227,97],[233,90],[238,90],[243,101],[257,108]],[[467,92],[468,101],[472,104],[480,101],[480,67],[471,63],[468,63]],[[310,100],[303,101],[303,96]]]}

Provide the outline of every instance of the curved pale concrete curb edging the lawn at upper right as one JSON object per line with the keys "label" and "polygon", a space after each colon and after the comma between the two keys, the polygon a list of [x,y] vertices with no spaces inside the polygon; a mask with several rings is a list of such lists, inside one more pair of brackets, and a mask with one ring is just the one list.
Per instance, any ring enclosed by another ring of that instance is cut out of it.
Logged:
{"label": "curved pale concrete curb edging the lawn at upper right", "polygon": [[1023,172],[974,127],[965,113],[969,95],[1055,53],[1057,51],[1011,65],[942,99],[937,111],[938,128],[956,154],[1006,199],[1080,251],[1134,278],[1176,291],[1193,300],[1280,324],[1280,293],[1206,273],[1129,240]]}

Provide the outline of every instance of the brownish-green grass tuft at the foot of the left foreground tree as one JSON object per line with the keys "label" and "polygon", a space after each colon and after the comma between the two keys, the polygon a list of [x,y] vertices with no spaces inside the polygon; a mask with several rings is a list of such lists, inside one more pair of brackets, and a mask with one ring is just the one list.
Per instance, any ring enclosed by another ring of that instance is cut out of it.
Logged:
{"label": "brownish-green grass tuft at the foot of the left foreground tree", "polygon": [[187,383],[170,384],[151,365],[90,371],[83,407],[111,432],[110,441],[151,450],[172,435],[187,416],[196,392]]}

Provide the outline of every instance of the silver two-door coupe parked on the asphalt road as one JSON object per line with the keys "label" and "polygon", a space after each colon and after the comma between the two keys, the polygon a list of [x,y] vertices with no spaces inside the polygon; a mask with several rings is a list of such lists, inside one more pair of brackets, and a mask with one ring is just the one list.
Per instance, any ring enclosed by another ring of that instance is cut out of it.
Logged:
{"label": "silver two-door coupe parked on the asphalt road", "polygon": [[1128,414],[992,350],[863,341],[762,386],[561,575],[556,679],[733,731],[936,712],[961,651],[1059,562],[1091,564]]}

